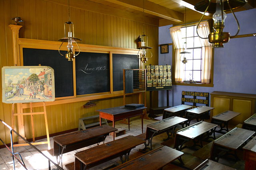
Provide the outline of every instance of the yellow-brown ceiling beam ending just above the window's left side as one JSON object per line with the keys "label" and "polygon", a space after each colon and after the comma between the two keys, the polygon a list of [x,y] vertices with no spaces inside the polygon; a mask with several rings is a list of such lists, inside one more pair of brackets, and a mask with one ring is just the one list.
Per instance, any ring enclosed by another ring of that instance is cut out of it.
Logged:
{"label": "yellow-brown ceiling beam ending just above the window's left side", "polygon": [[[134,10],[143,12],[143,2],[138,0],[105,0],[121,6],[126,6]],[[174,11],[170,8],[158,5],[154,2],[144,0],[144,12],[167,20],[181,22],[184,20],[184,14]]]}

